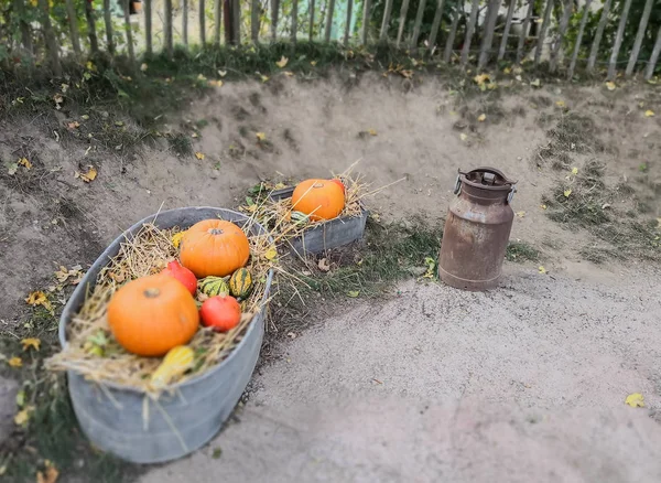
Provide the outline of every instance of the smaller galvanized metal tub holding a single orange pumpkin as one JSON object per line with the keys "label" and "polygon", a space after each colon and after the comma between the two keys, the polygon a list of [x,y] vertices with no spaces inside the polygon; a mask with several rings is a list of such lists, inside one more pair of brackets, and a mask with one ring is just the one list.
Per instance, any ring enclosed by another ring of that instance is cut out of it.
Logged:
{"label": "smaller galvanized metal tub holding a single orange pumpkin", "polygon": [[[275,190],[271,193],[271,200],[292,197],[293,193],[293,187]],[[339,216],[317,224],[306,229],[303,236],[289,242],[291,250],[299,256],[315,255],[359,240],[365,234],[368,215],[369,212],[362,207],[360,216]]]}

